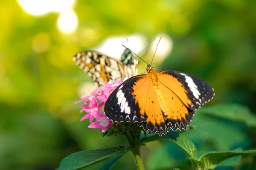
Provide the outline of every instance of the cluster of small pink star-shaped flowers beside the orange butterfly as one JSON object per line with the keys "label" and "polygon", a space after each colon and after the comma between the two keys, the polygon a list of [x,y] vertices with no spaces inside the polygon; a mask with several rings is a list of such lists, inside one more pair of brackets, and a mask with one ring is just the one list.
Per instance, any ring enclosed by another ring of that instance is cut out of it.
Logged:
{"label": "cluster of small pink star-shaped flowers beside the orange butterfly", "polygon": [[[108,129],[108,127],[112,126],[113,122],[110,119],[108,119],[108,117],[105,115],[104,111],[101,110],[101,108],[105,104],[106,100],[108,99],[108,96],[121,83],[122,82],[120,80],[117,80],[114,83],[112,80],[110,80],[108,83],[103,83],[103,87],[96,88],[95,90],[93,90],[91,94],[82,96],[81,100],[75,102],[75,103],[83,102],[84,105],[81,106],[80,113],[82,111],[85,111],[88,113],[82,117],[81,121],[89,118],[91,124],[88,127],[101,128],[102,133],[105,132]],[[96,119],[95,122],[93,122],[94,118]]]}

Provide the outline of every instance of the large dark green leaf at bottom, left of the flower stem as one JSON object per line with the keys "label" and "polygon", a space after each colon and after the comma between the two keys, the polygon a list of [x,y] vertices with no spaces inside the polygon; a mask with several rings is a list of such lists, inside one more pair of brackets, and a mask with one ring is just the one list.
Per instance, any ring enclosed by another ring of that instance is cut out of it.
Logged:
{"label": "large dark green leaf at bottom, left of the flower stem", "polygon": [[128,147],[112,147],[72,153],[61,161],[58,170],[77,170],[82,167],[87,167],[104,159],[122,155],[127,152],[127,149]]}

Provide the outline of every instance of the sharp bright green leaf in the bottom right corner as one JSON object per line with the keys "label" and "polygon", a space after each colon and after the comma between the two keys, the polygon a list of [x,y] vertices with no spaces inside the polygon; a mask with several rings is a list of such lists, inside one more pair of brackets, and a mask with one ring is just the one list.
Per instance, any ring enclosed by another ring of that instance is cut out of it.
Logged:
{"label": "sharp bright green leaf in the bottom right corner", "polygon": [[216,167],[221,161],[226,159],[247,154],[256,154],[256,150],[212,152],[202,155],[198,160],[194,158],[189,159],[195,170],[205,170]]}

